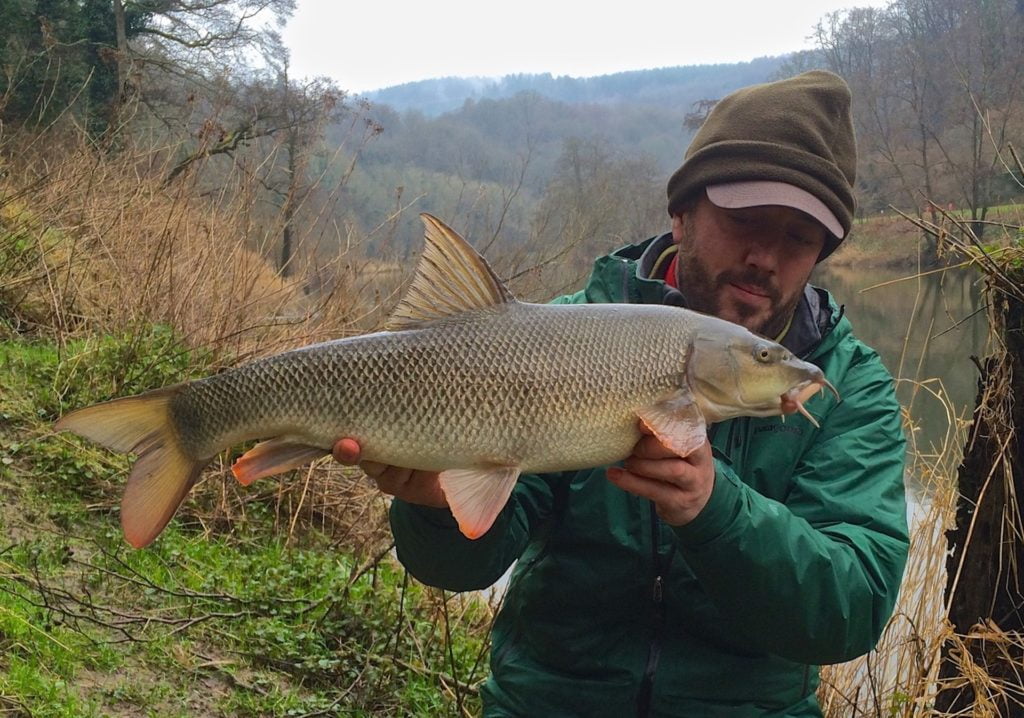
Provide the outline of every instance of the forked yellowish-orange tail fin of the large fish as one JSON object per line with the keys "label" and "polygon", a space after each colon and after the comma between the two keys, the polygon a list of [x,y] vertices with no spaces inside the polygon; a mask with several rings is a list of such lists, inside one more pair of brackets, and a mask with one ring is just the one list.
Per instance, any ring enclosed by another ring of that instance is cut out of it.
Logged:
{"label": "forked yellowish-orange tail fin of the large fish", "polygon": [[188,456],[171,419],[170,400],[183,386],[79,409],[55,425],[138,456],[121,499],[121,527],[135,548],[150,545],[164,530],[206,463]]}

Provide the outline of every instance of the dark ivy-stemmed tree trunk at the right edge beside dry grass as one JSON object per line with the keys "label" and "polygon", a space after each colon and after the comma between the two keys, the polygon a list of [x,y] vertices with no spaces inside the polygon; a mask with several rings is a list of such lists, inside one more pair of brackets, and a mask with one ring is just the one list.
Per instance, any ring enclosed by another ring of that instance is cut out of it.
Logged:
{"label": "dark ivy-stemmed tree trunk at the right edge beside dry grass", "polygon": [[[1017,274],[1024,286],[1024,271]],[[946,598],[956,637],[943,648],[936,707],[1024,716],[1024,302],[992,289],[988,296],[992,331],[1006,351],[979,364],[956,527],[947,535]]]}

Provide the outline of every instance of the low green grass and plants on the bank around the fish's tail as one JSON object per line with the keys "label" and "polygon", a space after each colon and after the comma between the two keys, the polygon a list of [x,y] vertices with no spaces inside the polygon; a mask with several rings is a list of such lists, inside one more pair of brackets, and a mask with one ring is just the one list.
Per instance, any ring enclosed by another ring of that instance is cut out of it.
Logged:
{"label": "low green grass and plants on the bank around the fish's tail", "polygon": [[[205,358],[164,328],[0,341],[0,713],[472,711],[489,607],[411,582],[386,544],[360,556],[323,531],[292,535],[258,492],[230,532],[210,529],[225,516],[186,508],[151,548],[124,544],[127,462],[50,422],[62,407],[186,378]],[[226,480],[208,477],[197,503]]]}

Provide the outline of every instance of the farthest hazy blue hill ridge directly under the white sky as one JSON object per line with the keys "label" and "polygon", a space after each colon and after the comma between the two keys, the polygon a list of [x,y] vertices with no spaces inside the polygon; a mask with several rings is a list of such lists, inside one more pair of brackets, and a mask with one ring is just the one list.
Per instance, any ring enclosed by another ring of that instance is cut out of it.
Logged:
{"label": "farthest hazy blue hill ridge directly under the white sky", "polygon": [[504,99],[534,92],[568,103],[632,103],[688,112],[693,102],[719,98],[729,91],[774,76],[787,56],[759,57],[749,62],[637,70],[598,77],[506,75],[501,79],[445,77],[395,85],[367,93],[372,102],[398,111],[436,117],[458,110],[466,100]]}

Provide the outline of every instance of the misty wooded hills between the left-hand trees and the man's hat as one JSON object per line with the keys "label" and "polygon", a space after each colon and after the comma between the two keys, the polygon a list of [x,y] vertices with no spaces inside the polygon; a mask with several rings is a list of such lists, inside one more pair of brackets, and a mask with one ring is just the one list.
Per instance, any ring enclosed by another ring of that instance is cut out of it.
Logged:
{"label": "misty wooded hills between the left-hand trees and the man's hat", "polygon": [[[511,245],[559,242],[561,229],[543,226],[608,214],[618,224],[598,233],[606,249],[665,223],[665,181],[690,141],[694,104],[793,72],[795,59],[591,78],[450,77],[371,92],[382,131],[361,150],[343,204],[362,227],[409,204],[474,236],[500,225]],[[394,231],[394,246],[418,246],[418,222]]]}

